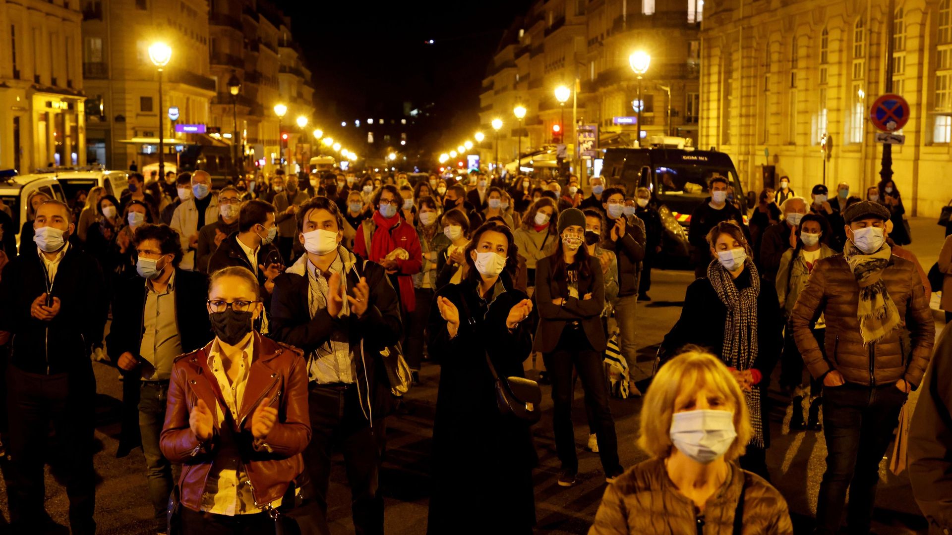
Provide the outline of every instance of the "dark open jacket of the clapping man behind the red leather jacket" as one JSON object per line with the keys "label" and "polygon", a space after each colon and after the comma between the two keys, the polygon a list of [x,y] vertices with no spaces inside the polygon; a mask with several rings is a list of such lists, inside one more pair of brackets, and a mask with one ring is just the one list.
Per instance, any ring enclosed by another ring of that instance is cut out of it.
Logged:
{"label": "dark open jacket of the clapping man behind the red leather jacket", "polygon": [[[347,248],[338,247],[337,250],[347,251],[347,255],[353,254]],[[363,318],[352,314],[344,318],[332,318],[327,308],[319,309],[313,318],[310,317],[307,297],[309,275],[301,268],[302,263],[307,266],[307,256],[304,256],[274,279],[268,336],[303,349],[307,358],[311,351],[327,343],[333,327],[346,330],[350,333],[348,343],[354,348],[357,359],[356,384],[361,392],[361,403],[365,403],[369,393],[372,396],[369,405],[379,411],[386,409],[389,402],[386,370],[383,365],[378,366],[380,350],[396,344],[403,332],[400,301],[384,268],[374,262],[364,262],[356,255],[353,258],[356,263],[353,268],[347,269],[347,287],[355,287],[361,276],[367,278],[367,286],[370,287],[367,312]],[[353,295],[353,291],[349,291],[349,294]],[[361,355],[360,347],[364,348],[366,354]]]}

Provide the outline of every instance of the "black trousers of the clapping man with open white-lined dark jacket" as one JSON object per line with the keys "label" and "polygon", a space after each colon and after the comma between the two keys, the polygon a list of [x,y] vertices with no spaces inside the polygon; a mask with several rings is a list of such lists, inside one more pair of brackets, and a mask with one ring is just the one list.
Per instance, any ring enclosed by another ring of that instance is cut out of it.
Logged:
{"label": "black trousers of the clapping man with open white-lined dark jacket", "polygon": [[[354,530],[357,535],[383,534],[384,498],[377,480],[380,450],[361,410],[357,387],[311,383],[307,402],[311,439],[304,451],[304,461],[318,505],[326,516],[330,456],[336,447],[344,454],[347,467]],[[382,425],[382,420],[374,419],[374,426]],[[323,527],[327,529],[326,525]]]}

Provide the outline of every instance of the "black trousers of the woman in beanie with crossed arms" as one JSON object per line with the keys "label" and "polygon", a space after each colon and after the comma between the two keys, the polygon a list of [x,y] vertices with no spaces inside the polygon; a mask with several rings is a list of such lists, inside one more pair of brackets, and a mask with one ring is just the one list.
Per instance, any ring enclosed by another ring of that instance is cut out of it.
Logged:
{"label": "black trousers of the woman in beanie with crossed arms", "polygon": [[602,355],[591,347],[582,328],[566,326],[556,350],[543,355],[545,369],[552,378],[553,427],[555,447],[562,469],[577,472],[579,459],[572,426],[572,367],[579,372],[585,390],[585,406],[591,431],[597,435],[599,457],[606,475],[614,475],[618,461],[618,437],[608,407],[608,386]]}

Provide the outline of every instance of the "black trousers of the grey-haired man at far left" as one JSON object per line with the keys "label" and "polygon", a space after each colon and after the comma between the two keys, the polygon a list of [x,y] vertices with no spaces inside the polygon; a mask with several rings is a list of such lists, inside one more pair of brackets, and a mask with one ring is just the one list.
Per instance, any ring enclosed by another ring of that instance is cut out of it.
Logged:
{"label": "black trousers of the grey-haired man at far left", "polygon": [[[80,358],[77,356],[77,358]],[[86,355],[82,358],[88,359]],[[5,472],[10,524],[29,529],[46,516],[43,466],[50,465],[66,485],[72,533],[93,533],[96,503],[92,467],[96,379],[88,367],[72,373],[40,375],[7,369],[9,470]],[[54,444],[48,448],[52,429]]]}

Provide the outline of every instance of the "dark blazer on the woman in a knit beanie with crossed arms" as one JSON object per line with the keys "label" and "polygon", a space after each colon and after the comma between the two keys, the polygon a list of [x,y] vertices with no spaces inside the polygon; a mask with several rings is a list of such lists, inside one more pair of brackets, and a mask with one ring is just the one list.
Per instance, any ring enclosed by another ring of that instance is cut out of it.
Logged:
{"label": "dark blazer on the woman in a knit beanie with crossed arms", "polygon": [[[562,254],[558,250],[556,254]],[[602,264],[597,258],[588,257],[587,278],[579,277],[579,298],[568,297],[565,277],[552,276],[552,257],[546,256],[536,262],[536,289],[533,297],[539,310],[539,329],[536,331],[533,350],[543,353],[554,351],[562,331],[571,322],[579,322],[585,330],[588,343],[596,351],[605,350],[605,328],[602,327],[602,310],[605,308],[605,280]],[[585,299],[590,293],[591,299]],[[565,299],[562,307],[554,305],[553,299]]]}

